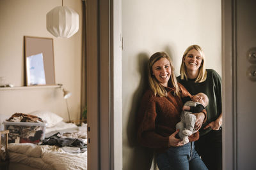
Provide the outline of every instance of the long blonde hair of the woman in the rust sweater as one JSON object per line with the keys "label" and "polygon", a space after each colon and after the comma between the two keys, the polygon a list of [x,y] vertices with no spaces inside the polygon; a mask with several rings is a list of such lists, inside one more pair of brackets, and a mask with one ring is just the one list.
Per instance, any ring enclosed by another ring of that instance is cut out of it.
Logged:
{"label": "long blonde hair of the woman in the rust sweater", "polygon": [[170,66],[172,69],[172,75],[170,77],[170,80],[168,81],[168,85],[172,85],[172,87],[175,89],[175,94],[177,96],[180,96],[180,88],[176,80],[176,76],[174,74],[174,67],[172,64],[172,61],[170,57],[165,52],[156,52],[154,53],[150,59],[148,60],[148,81],[149,81],[149,87],[154,92],[155,96],[158,95],[160,97],[167,96],[167,92],[164,89],[163,85],[159,83],[159,81],[156,79],[156,77],[153,75],[152,66],[157,62],[157,60],[165,58],[170,62]]}

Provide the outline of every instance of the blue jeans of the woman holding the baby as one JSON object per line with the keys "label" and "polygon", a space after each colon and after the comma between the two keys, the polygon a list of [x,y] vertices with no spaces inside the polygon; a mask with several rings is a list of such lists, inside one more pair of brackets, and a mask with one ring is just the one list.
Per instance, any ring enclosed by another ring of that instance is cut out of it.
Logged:
{"label": "blue jeans of the woman holding the baby", "polygon": [[195,150],[194,142],[179,147],[171,147],[157,155],[160,170],[206,170],[202,159]]}

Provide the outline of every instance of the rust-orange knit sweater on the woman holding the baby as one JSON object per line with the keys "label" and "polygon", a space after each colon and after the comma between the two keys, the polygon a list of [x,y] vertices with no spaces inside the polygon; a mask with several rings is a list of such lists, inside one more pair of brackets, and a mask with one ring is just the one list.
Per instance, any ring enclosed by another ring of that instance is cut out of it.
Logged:
{"label": "rust-orange knit sweater on the woman holding the baby", "polygon": [[[181,97],[191,96],[180,83],[179,87]],[[173,95],[173,88],[166,87],[166,91],[166,97],[159,97],[148,89],[142,98],[138,113],[138,141],[143,146],[156,148],[157,152],[163,152],[169,147],[169,136],[176,131],[175,125],[180,122],[183,106],[180,97]],[[189,141],[196,141],[198,138],[199,134],[196,132],[189,136]]]}

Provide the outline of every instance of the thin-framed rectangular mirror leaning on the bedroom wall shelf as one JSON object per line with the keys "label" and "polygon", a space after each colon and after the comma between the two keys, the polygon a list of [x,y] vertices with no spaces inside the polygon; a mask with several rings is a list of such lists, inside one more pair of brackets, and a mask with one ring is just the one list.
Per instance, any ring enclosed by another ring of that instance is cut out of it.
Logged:
{"label": "thin-framed rectangular mirror leaning on the bedroom wall shelf", "polygon": [[26,85],[55,85],[53,39],[24,36]]}

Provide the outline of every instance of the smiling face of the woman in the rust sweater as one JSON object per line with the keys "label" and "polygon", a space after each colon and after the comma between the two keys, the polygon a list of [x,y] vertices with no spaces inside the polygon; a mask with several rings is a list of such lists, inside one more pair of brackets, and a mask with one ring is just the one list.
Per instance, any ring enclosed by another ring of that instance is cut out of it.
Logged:
{"label": "smiling face of the woman in the rust sweater", "polygon": [[152,74],[156,77],[161,85],[167,87],[168,81],[172,74],[172,68],[168,59],[162,57],[152,66]]}

